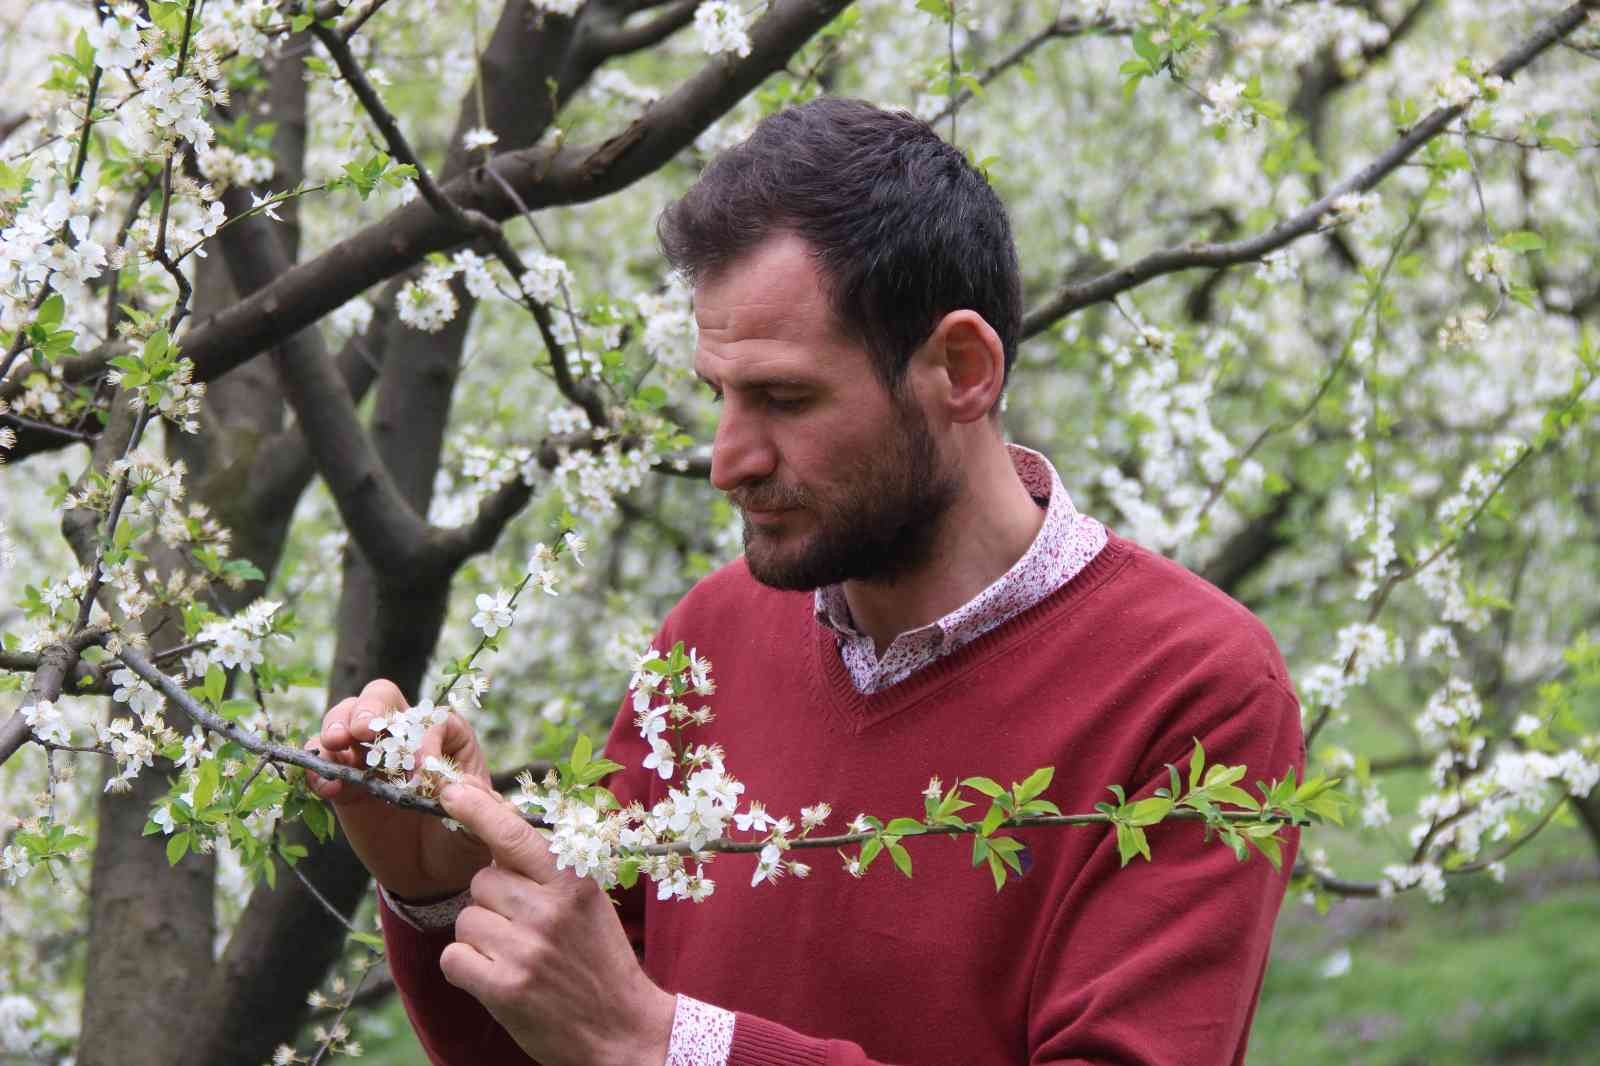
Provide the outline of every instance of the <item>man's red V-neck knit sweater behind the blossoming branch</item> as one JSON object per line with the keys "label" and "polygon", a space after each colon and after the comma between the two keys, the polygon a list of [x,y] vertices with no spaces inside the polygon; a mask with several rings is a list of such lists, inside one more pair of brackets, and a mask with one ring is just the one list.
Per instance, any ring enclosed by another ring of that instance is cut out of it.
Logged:
{"label": "man's red V-neck knit sweater behind the blossoming branch", "polygon": [[[701,581],[661,645],[709,656],[718,741],[744,797],[797,815],[827,800],[922,815],[930,775],[1021,781],[1056,767],[1064,812],[1166,783],[1198,738],[1245,783],[1304,762],[1278,651],[1238,603],[1112,538],[1067,586],[891,688],[861,695],[810,594],[757,584],[742,562]],[[624,804],[662,794],[624,709],[608,784]],[[979,808],[981,810],[981,808]],[[826,831],[837,831],[829,824]],[[1238,863],[1194,823],[1150,829],[1155,861],[1118,869],[1102,828],[1019,832],[1032,868],[995,893],[963,839],[910,840],[915,877],[882,860],[853,880],[829,853],[806,882],[749,888],[750,855],[709,868],[706,903],[635,890],[624,920],[667,991],[738,1012],[730,1063],[1242,1063],[1285,872]],[[389,962],[440,1066],[525,1063],[475,1000],[443,981],[450,932],[384,914]],[[645,1064],[656,1066],[656,1064]]]}

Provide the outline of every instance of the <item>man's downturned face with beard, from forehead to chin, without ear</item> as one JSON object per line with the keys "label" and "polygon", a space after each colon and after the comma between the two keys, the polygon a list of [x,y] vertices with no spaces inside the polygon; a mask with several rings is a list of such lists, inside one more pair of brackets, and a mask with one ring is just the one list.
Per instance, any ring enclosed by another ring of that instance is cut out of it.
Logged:
{"label": "man's downturned face with beard, from forehead to chin, without ear", "polygon": [[722,416],[710,480],[779,589],[893,581],[923,562],[958,479],[912,381],[890,392],[834,322],[805,243],[774,237],[694,290],[696,373]]}

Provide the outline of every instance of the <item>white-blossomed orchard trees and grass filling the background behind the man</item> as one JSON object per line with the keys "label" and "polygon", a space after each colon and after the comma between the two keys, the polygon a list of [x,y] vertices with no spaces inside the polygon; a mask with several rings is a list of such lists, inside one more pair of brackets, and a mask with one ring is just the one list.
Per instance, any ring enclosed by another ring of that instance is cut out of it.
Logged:
{"label": "white-blossomed orchard trees and grass filling the background behind the man", "polygon": [[989,173],[1011,437],[1342,778],[1253,1061],[1581,1061],[1597,8],[0,2],[0,1063],[421,1061],[298,771],[128,663],[286,747],[456,677],[506,784],[600,736],[739,544],[653,219],[818,93]]}

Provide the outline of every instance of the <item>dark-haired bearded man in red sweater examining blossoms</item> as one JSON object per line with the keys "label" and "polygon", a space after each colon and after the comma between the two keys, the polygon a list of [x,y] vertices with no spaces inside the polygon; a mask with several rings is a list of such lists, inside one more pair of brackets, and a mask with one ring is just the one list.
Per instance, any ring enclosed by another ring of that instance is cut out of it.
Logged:
{"label": "dark-haired bearded man in red sweater examining blossoms", "polygon": [[[888,818],[920,812],[930,775],[1053,765],[1048,799],[1083,812],[1107,784],[1150,794],[1195,739],[1246,781],[1302,762],[1261,624],[1005,443],[1010,224],[925,123],[840,99],[779,112],[661,237],[694,285],[694,365],[722,403],[712,482],[746,554],[658,647],[714,663],[717,720],[696,741],[726,749],[746,799]],[[322,747],[354,763],[366,717],[394,706],[368,685]],[[459,719],[429,744],[486,783]],[[627,767],[619,800],[664,794],[626,703],[606,751]],[[1286,877],[1192,823],[1154,828],[1155,861],[1126,869],[1102,829],[1035,829],[998,893],[970,845],[926,839],[914,880],[824,861],[750,890],[750,858],[722,856],[707,901],[635,890],[613,911],[482,789],[442,799],[486,847],[318,789],[384,888],[413,1024],[451,1064],[1238,1063]],[[1285,871],[1293,856],[1291,837]]]}

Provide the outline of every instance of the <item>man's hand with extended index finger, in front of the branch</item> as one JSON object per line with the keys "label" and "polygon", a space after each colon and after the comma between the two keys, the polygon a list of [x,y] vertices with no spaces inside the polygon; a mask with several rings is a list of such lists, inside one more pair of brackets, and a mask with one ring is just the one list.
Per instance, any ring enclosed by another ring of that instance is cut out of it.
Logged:
{"label": "man's hand with extended index finger, in front of the branch", "polygon": [[438,799],[494,856],[438,959],[445,980],[544,1066],[666,1063],[677,999],[638,965],[611,900],[555,869],[544,839],[499,795],[451,784]]}

